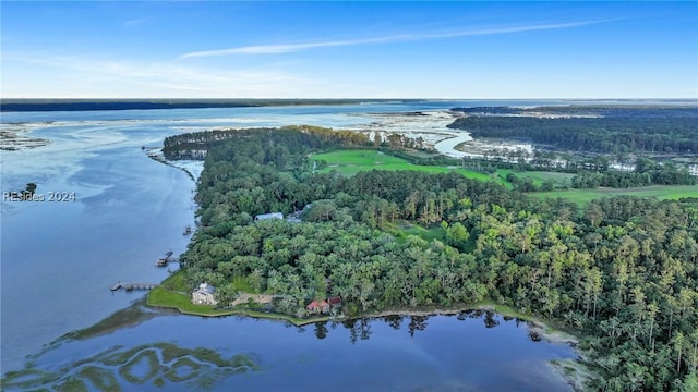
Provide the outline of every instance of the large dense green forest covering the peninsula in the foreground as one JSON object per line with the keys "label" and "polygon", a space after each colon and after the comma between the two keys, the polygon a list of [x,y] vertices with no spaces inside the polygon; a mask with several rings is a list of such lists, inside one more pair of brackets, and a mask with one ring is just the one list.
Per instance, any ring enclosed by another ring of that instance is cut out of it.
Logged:
{"label": "large dense green forest covering the peninsula in the foreground", "polygon": [[[341,295],[348,315],[492,299],[580,331],[598,390],[698,390],[698,199],[603,198],[579,208],[456,173],[314,173],[345,146],[301,128],[212,144],[202,228],[182,259],[222,303],[243,277],[302,315]],[[310,207],[304,208],[310,205]],[[302,222],[254,215],[303,210]],[[437,232],[409,235],[409,226]]]}

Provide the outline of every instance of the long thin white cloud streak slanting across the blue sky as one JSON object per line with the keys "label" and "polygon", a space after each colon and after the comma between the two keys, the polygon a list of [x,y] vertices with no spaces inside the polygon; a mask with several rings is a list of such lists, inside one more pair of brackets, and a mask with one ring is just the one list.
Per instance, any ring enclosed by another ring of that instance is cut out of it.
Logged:
{"label": "long thin white cloud streak slanting across the blue sky", "polygon": [[256,46],[244,46],[244,47],[238,47],[238,48],[220,49],[220,50],[189,52],[189,53],[182,54],[180,58],[186,59],[186,58],[201,58],[201,57],[228,56],[228,54],[288,53],[288,52],[298,52],[303,50],[329,48],[329,47],[345,47],[345,46],[358,46],[358,45],[370,45],[370,44],[388,44],[388,42],[417,41],[417,40],[438,39],[438,38],[455,38],[455,37],[467,37],[467,36],[514,34],[514,33],[524,33],[524,32],[533,32],[533,30],[571,28],[571,27],[604,23],[609,21],[610,20],[539,24],[539,25],[513,26],[513,27],[479,28],[479,29],[470,29],[470,30],[456,30],[456,32],[431,33],[431,34],[401,34],[401,35],[392,35],[392,36],[385,36],[385,37],[320,41],[320,42],[256,45]]}

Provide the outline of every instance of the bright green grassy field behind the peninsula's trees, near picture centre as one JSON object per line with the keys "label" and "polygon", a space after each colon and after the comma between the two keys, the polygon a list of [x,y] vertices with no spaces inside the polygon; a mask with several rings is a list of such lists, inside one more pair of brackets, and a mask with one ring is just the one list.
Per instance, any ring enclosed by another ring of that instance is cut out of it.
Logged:
{"label": "bright green grassy field behind the peninsula's trees, near picture centre", "polygon": [[453,167],[438,166],[419,166],[412,164],[405,159],[389,156],[376,150],[340,150],[327,154],[314,154],[310,157],[312,160],[324,160],[328,167],[320,170],[320,172],[328,173],[333,170],[344,175],[354,175],[364,170],[416,170],[429,173],[460,173],[469,179],[490,181],[492,177],[488,174],[464,170]]}

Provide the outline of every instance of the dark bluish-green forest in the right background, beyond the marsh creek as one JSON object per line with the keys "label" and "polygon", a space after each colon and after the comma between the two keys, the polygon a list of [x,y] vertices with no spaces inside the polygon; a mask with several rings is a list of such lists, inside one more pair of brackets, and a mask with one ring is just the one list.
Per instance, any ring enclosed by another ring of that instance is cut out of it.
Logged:
{"label": "dark bluish-green forest in the right background, beyond the marsh creek", "polygon": [[604,154],[698,152],[696,108],[545,107],[527,110],[541,112],[538,117],[510,115],[512,109],[504,111],[508,115],[490,108],[455,110],[469,115],[448,126],[466,130],[476,138],[526,138],[557,149]]}

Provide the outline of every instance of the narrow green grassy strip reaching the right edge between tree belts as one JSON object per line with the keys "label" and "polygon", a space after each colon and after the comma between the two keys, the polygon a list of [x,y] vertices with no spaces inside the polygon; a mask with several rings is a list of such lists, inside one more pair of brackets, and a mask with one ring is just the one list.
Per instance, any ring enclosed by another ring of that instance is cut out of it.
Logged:
{"label": "narrow green grassy strip reaching the right edge between tree belts", "polygon": [[698,197],[698,185],[652,185],[637,188],[598,188],[598,189],[567,189],[554,192],[531,193],[534,197],[563,197],[583,206],[601,197],[637,196],[657,197],[658,199],[679,199],[682,197]]}

